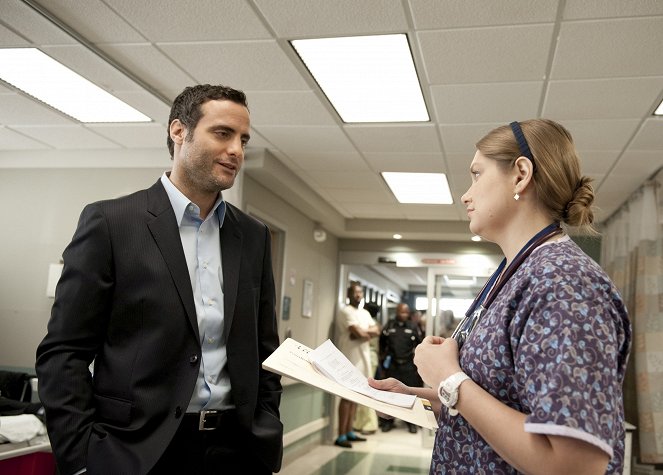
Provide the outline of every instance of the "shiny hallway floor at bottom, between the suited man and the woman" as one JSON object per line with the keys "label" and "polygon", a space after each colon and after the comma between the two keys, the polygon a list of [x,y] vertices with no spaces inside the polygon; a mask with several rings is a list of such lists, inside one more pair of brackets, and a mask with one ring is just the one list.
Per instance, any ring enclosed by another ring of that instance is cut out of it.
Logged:
{"label": "shiny hallway floor at bottom, between the suited man and the woman", "polygon": [[[283,466],[280,475],[426,474],[431,459],[432,432],[411,434],[396,421],[389,432],[365,435],[351,449],[319,445]],[[423,447],[426,448],[423,448]]]}

